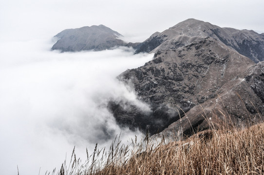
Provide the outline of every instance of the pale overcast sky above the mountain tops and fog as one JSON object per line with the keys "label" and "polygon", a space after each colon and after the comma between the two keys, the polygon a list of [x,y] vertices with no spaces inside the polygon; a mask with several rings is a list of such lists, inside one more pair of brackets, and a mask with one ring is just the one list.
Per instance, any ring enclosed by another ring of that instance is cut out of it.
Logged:
{"label": "pale overcast sky above the mountain tops and fog", "polygon": [[0,39],[103,24],[125,36],[140,34],[141,41],[188,18],[264,31],[263,7],[263,0],[1,0]]}

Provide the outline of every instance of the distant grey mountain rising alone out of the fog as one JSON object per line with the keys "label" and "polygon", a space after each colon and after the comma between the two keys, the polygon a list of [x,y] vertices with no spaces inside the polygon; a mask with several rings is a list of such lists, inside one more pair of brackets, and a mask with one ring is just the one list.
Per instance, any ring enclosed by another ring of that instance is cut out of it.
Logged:
{"label": "distant grey mountain rising alone out of the fog", "polygon": [[[102,51],[127,46],[127,43],[118,39],[119,36],[122,35],[104,25],[66,29],[55,35],[59,39],[52,50],[61,50],[61,52]],[[130,43],[129,46],[135,47],[135,45]]]}

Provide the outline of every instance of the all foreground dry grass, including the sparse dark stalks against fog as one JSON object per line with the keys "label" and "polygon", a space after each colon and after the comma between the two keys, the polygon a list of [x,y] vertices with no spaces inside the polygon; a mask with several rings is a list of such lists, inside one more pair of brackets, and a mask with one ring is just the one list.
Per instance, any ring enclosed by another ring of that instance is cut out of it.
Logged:
{"label": "all foreground dry grass, including the sparse dark stalks against fog", "polygon": [[[208,137],[209,136],[209,137]],[[261,175],[264,174],[264,124],[243,130],[218,129],[187,140],[132,142],[115,140],[109,151],[94,149],[80,164],[73,151],[70,166],[58,175]],[[55,171],[54,171],[55,172]],[[55,174],[55,173],[52,173]]]}

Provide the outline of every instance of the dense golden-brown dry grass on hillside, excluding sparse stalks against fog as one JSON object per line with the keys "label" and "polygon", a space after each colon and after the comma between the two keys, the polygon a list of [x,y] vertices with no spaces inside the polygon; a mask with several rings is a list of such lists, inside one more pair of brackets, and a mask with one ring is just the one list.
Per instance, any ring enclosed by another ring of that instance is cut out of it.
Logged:
{"label": "dense golden-brown dry grass on hillside, excluding sparse stalks against fog", "polygon": [[264,174],[264,124],[243,131],[212,132],[212,139],[174,141],[110,164],[96,175],[246,175]]}

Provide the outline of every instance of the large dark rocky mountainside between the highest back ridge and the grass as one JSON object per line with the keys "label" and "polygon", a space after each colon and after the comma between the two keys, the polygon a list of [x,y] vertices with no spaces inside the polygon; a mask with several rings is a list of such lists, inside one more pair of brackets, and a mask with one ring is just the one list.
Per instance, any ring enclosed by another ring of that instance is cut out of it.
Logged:
{"label": "large dark rocky mountainside between the highest back ridge and the grass", "polygon": [[259,119],[257,111],[264,113],[263,65],[214,38],[196,37],[184,47],[159,50],[152,61],[119,75],[132,83],[152,112],[129,102],[111,102],[109,108],[119,124],[151,134],[165,128],[165,134],[189,134],[229,121],[229,116],[232,123],[242,125]]}

